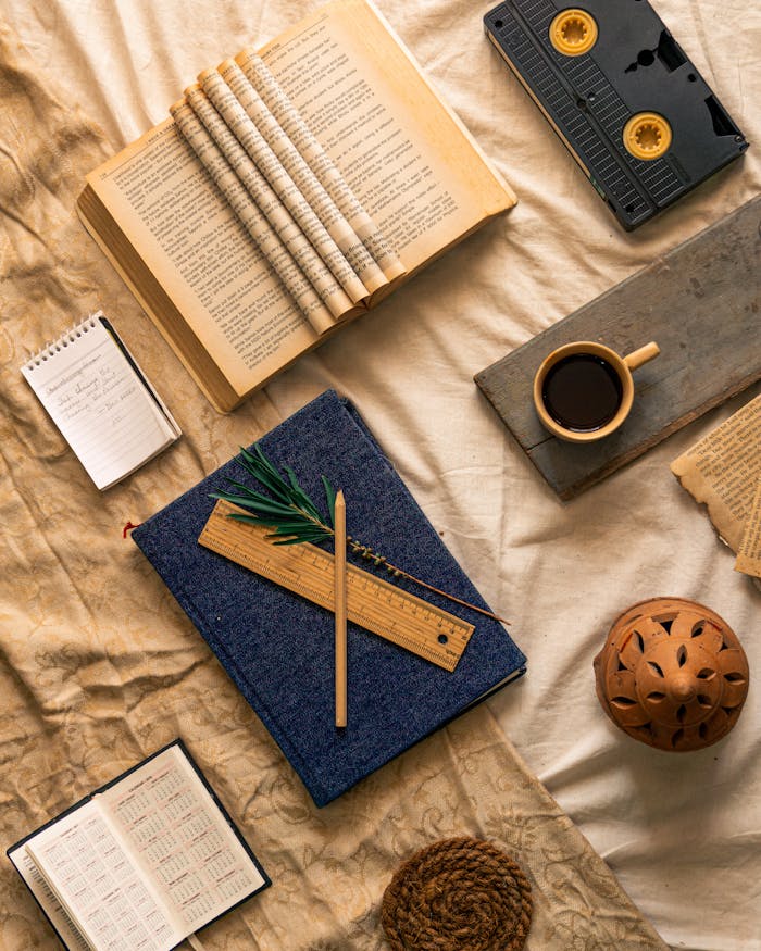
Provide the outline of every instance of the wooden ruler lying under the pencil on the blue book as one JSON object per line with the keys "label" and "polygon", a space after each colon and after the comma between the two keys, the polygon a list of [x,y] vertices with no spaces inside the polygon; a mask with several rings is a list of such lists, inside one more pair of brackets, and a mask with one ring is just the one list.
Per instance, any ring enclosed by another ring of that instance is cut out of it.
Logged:
{"label": "wooden ruler lying under the pencil on the blue book", "polygon": [[[273,545],[270,528],[228,518],[219,500],[198,541],[204,548],[333,611],[333,554],[314,545]],[[474,627],[354,565],[347,565],[347,616],[366,630],[453,671]]]}

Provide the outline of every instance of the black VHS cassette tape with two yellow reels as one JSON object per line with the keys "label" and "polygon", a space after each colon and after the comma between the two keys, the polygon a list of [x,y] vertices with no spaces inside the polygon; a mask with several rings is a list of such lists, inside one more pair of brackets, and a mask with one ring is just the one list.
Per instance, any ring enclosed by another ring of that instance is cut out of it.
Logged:
{"label": "black VHS cassette tape with two yellow reels", "polygon": [[647,0],[504,0],[484,28],[627,230],[748,148]]}

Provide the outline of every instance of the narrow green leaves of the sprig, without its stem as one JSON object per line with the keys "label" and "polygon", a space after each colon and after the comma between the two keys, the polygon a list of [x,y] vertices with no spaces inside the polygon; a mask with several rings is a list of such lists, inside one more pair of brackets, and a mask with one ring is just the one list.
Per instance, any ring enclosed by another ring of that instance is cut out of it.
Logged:
{"label": "narrow green leaves of the sprig, without its stem", "polygon": [[252,513],[248,515],[235,512],[229,515],[230,518],[271,527],[273,529],[271,537],[275,539],[275,545],[296,545],[301,541],[319,542],[333,538],[336,493],[325,476],[322,476],[322,480],[329,512],[329,524],[325,523],[314,502],[301,488],[296,473],[289,466],[284,466],[287,479],[284,478],[264,455],[259,443],[254,443],[253,452],[241,448],[237,462],[270,495],[265,496],[244,483],[228,479],[235,491],[211,492],[211,497],[224,499]]}

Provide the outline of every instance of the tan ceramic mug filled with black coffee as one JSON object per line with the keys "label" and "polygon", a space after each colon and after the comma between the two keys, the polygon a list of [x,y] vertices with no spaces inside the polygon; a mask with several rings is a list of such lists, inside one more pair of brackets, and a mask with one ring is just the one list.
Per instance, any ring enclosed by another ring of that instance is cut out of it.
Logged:
{"label": "tan ceramic mug filled with black coffee", "polygon": [[660,352],[658,345],[650,342],[621,356],[591,340],[553,350],[534,377],[534,405],[542,425],[569,442],[594,442],[610,436],[632,409],[632,371]]}

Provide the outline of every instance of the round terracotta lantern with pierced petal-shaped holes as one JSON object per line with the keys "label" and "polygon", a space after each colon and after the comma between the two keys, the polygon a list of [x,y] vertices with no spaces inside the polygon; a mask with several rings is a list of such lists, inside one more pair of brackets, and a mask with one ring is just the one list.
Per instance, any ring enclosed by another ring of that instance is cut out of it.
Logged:
{"label": "round terracotta lantern with pierced petal-shaped holes", "polygon": [[732,729],[748,661],[729,625],[682,598],[625,611],[595,658],[597,696],[613,723],[660,750],[699,750]]}

